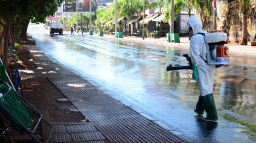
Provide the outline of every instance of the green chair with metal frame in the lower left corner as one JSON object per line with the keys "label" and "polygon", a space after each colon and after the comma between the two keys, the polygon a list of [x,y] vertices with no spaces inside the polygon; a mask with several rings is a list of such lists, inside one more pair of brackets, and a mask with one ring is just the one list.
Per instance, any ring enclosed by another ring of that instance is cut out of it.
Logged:
{"label": "green chair with metal frame in the lower left corner", "polygon": [[39,143],[41,141],[32,133],[38,129],[41,121],[51,128],[46,143],[53,131],[52,126],[44,120],[41,113],[3,80],[0,80],[0,118],[7,128],[16,129],[20,133],[26,132]]}

